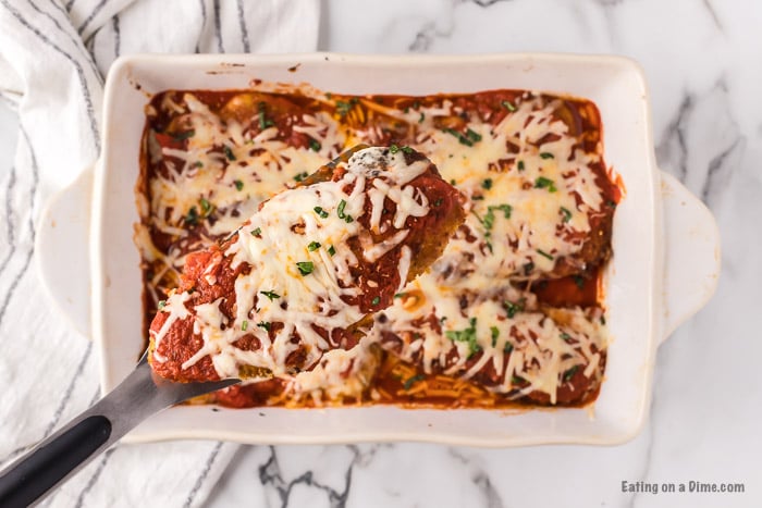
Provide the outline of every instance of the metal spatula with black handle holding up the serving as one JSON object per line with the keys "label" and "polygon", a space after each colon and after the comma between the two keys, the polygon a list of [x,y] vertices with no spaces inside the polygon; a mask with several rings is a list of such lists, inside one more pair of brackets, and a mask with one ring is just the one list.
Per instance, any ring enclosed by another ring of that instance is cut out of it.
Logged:
{"label": "metal spatula with black handle holding up the serving", "polygon": [[146,351],[135,370],[113,392],[0,472],[0,506],[25,507],[40,501],[146,418],[238,382],[167,381],[152,372]]}

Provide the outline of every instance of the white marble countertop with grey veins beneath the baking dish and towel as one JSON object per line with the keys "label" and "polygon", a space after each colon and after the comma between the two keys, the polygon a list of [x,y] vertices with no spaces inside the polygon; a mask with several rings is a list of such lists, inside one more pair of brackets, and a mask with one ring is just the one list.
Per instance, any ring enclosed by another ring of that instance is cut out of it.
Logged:
{"label": "white marble countertop with grey veins beneath the baking dish and towel", "polygon": [[[614,447],[246,446],[209,506],[762,506],[762,3],[721,0],[323,2],[320,49],[563,51],[640,62],[660,166],[714,212],[714,299],[660,348],[651,417]],[[0,152],[15,126],[0,106]],[[0,160],[0,176],[9,168]],[[743,493],[623,492],[623,482]]]}

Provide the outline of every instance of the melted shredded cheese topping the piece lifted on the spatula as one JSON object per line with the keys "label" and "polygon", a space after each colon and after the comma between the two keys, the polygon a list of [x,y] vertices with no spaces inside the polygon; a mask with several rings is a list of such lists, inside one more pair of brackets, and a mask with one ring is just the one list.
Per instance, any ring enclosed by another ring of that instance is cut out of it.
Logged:
{"label": "melted shredded cheese topping the piece lifted on the spatula", "polygon": [[[361,296],[358,281],[349,271],[359,260],[347,243],[365,231],[358,219],[366,213],[367,181],[372,178],[370,191],[381,189],[397,203],[394,218],[383,226],[398,231],[390,240],[368,246],[367,251],[377,260],[391,249],[389,241],[394,247],[407,236],[405,220],[398,221],[400,216],[429,212],[426,197],[406,185],[428,166],[425,160],[408,164],[402,152],[368,148],[349,159],[341,179],[290,189],[266,201],[225,251],[232,257],[231,269],[242,263],[251,267],[248,274],[235,281],[236,314],[232,320],[225,317],[220,309],[222,298],[193,308],[194,334],[202,338],[204,345],[183,369],[208,356],[223,379],[238,376],[242,365],[268,369],[282,376],[290,373],[288,356],[299,348],[306,350],[308,368],[317,364],[327,350],[335,347],[321,331],[330,337],[333,330],[345,329],[365,315],[358,306],[347,303],[352,297]],[[371,201],[371,215],[379,207],[383,202]],[[331,246],[333,255],[329,252]],[[209,276],[212,268],[208,267],[204,275]],[[165,323],[188,315],[184,305],[187,300],[187,293],[170,296],[162,310],[170,314]],[[280,324],[276,330],[274,323]],[[157,350],[168,330],[164,324],[153,335]],[[235,346],[247,334],[254,335],[261,347],[243,350]],[[325,367],[325,372],[331,368]]]}

